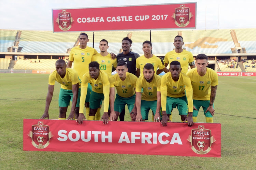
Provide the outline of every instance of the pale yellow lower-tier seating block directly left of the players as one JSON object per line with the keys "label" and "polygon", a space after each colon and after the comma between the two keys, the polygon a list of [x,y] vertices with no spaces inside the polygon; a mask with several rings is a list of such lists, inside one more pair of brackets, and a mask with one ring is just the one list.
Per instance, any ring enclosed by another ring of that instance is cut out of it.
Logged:
{"label": "pale yellow lower-tier seating block directly left of the players", "polygon": [[[36,61],[36,63],[35,63]],[[55,63],[57,59],[31,59],[30,60],[18,60],[14,65],[14,70],[55,70]]]}

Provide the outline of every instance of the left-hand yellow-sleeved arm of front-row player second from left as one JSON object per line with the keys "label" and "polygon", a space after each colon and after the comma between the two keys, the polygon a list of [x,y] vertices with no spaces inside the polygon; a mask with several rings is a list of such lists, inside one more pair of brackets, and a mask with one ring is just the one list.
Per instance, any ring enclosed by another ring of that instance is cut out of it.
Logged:
{"label": "left-hand yellow-sleeved arm of front-row player second from left", "polygon": [[85,118],[84,116],[84,103],[87,95],[87,88],[88,88],[89,79],[83,75],[82,83],[81,83],[81,96],[80,96],[80,103],[79,103],[79,116],[76,120],[79,124],[83,123]]}

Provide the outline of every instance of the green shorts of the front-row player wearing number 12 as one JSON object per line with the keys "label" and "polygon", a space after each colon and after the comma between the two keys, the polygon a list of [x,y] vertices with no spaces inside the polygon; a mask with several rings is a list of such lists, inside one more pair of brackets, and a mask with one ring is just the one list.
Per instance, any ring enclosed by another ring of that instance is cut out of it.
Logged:
{"label": "green shorts of the front-row player wearing number 12", "polygon": [[115,112],[121,113],[123,111],[123,109],[125,108],[125,105],[127,104],[129,112],[131,113],[131,111],[134,107],[135,98],[136,98],[135,95],[125,98],[125,97],[121,97],[118,94],[116,94],[116,99],[115,99],[115,103],[114,103]]}

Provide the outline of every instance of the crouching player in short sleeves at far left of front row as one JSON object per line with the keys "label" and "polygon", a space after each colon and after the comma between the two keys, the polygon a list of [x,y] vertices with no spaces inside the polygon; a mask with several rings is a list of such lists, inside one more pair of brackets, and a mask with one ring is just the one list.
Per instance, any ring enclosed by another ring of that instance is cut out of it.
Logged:
{"label": "crouching player in short sleeves at far left of front row", "polygon": [[46,96],[44,114],[40,119],[49,119],[49,106],[52,101],[55,81],[61,84],[59,93],[59,119],[66,119],[66,113],[70,99],[72,100],[71,111],[68,120],[77,119],[80,102],[80,85],[81,81],[77,72],[72,68],[67,68],[64,60],[57,60],[55,63],[56,70],[49,75],[48,92]]}

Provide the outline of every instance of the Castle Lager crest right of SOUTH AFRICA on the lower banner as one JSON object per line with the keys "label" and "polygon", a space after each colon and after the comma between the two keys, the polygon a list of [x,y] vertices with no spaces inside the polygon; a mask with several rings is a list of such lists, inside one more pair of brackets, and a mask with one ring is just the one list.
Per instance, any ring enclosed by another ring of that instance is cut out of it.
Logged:
{"label": "Castle Lager crest right of SOUTH AFRICA on the lower banner", "polygon": [[198,129],[191,130],[191,136],[187,139],[192,146],[192,150],[197,154],[207,154],[211,151],[212,143],[216,140],[211,136],[211,130],[204,129],[204,126],[199,125]]}

